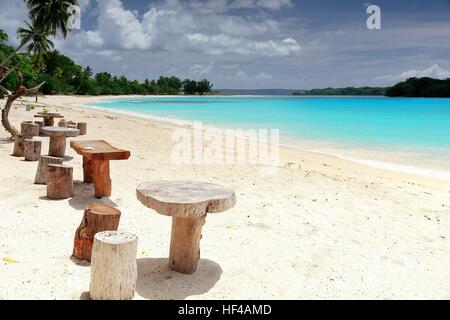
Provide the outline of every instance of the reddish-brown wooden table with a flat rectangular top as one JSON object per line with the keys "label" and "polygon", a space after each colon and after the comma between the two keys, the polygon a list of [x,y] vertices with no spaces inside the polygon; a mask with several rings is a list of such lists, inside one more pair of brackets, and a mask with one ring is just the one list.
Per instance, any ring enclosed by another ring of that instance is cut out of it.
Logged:
{"label": "reddish-brown wooden table with a flat rectangular top", "polygon": [[94,183],[95,197],[111,196],[109,161],[127,160],[130,151],[117,149],[104,140],[71,141],[70,147],[83,156],[84,182]]}

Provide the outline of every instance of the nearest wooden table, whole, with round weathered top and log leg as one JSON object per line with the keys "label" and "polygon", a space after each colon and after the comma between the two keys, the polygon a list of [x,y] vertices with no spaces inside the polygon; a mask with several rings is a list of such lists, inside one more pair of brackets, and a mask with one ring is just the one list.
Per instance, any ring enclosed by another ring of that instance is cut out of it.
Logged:
{"label": "nearest wooden table, whole, with round weathered top and log leg", "polygon": [[136,194],[148,208],[172,217],[169,268],[188,274],[197,269],[206,215],[226,211],[236,204],[232,189],[203,182],[144,182]]}

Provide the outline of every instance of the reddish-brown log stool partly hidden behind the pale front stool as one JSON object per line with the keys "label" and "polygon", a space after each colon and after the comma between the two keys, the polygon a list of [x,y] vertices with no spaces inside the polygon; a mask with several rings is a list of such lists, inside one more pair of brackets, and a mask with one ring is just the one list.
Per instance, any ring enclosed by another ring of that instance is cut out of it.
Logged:
{"label": "reddish-brown log stool partly hidden behind the pale front stool", "polygon": [[91,261],[94,235],[102,231],[115,231],[119,226],[120,211],[104,204],[91,204],[84,210],[83,220],[75,232],[73,256]]}

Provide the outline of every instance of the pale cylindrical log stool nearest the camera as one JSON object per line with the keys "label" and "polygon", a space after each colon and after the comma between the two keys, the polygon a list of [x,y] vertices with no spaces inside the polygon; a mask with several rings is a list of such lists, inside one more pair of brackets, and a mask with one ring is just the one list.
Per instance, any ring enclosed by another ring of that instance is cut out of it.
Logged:
{"label": "pale cylindrical log stool nearest the camera", "polygon": [[131,300],[137,280],[134,234],[104,231],[94,237],[90,296],[93,300]]}

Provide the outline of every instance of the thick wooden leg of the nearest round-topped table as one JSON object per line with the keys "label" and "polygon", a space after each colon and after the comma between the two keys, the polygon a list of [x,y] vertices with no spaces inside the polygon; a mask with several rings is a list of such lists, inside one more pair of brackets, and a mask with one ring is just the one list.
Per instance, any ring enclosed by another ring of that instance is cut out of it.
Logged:
{"label": "thick wooden leg of the nearest round-topped table", "polygon": [[172,217],[169,268],[191,274],[197,269],[200,259],[200,238],[206,214],[200,218]]}

